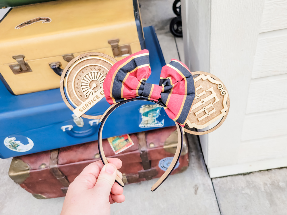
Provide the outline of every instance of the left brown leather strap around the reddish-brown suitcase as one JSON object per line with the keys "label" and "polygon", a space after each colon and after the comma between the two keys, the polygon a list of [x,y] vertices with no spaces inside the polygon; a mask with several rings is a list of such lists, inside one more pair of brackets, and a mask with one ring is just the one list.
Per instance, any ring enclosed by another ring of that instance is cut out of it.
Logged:
{"label": "left brown leather strap around the reddish-brown suitcase", "polygon": [[66,176],[58,169],[58,156],[59,149],[54,149],[50,151],[50,172],[61,182],[64,187],[69,187],[70,182]]}

